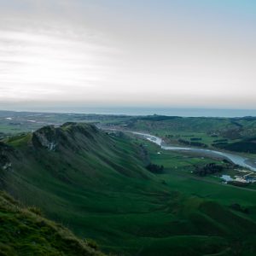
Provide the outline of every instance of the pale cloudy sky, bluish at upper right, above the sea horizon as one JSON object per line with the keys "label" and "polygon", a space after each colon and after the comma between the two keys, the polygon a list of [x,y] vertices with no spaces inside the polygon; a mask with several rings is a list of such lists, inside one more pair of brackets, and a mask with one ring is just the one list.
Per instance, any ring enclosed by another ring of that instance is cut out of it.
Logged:
{"label": "pale cloudy sky, bluish at upper right, above the sea horizon", "polygon": [[0,0],[0,108],[256,109],[255,48],[255,0]]}

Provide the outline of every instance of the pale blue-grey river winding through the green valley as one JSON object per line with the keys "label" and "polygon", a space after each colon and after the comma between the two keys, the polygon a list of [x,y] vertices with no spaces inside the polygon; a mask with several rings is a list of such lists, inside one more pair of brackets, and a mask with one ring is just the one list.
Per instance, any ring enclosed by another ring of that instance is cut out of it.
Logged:
{"label": "pale blue-grey river winding through the green valley", "polygon": [[236,165],[246,167],[251,171],[256,172],[255,159],[254,160],[248,159],[247,157],[244,157],[238,154],[231,154],[231,153],[216,151],[212,149],[168,146],[164,144],[163,140],[160,137],[156,137],[154,135],[143,133],[143,132],[137,132],[137,131],[130,131],[130,132],[135,135],[146,138],[148,141],[159,145],[162,149],[165,149],[165,150],[187,151],[187,152],[193,152],[201,156],[224,158],[226,160],[230,160]]}

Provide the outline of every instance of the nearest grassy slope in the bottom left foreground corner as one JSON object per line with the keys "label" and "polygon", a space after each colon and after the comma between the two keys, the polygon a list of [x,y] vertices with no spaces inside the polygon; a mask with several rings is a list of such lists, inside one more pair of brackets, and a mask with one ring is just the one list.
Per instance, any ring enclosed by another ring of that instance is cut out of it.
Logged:
{"label": "nearest grassy slope in the bottom left foreground corner", "polygon": [[0,255],[88,255],[102,253],[60,224],[40,216],[36,207],[21,207],[0,191]]}

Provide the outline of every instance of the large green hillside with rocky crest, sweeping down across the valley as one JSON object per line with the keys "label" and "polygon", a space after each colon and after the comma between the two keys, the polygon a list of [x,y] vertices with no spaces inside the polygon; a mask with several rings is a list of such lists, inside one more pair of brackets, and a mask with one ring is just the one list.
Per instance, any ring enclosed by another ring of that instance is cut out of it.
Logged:
{"label": "large green hillside with rocky crest, sweeping down across the valley", "polygon": [[[180,177],[156,148],[147,153],[141,143],[73,123],[10,137],[0,144],[1,187],[105,252],[256,253],[254,191]],[[148,158],[162,162],[166,173],[148,172]],[[240,203],[242,196],[249,214],[230,209],[234,196]]]}

